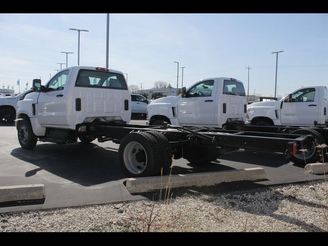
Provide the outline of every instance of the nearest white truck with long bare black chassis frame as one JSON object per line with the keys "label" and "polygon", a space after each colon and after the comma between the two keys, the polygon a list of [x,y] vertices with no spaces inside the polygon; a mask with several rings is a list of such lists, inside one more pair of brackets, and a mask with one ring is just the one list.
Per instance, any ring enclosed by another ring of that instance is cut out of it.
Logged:
{"label": "nearest white truck with long bare black chassis frame", "polygon": [[[206,94],[210,86],[214,88],[215,81],[213,79],[213,84],[203,84],[203,90],[196,89],[195,93]],[[243,102],[236,95],[238,92],[231,93],[236,99],[227,99],[226,112],[230,101],[238,104]],[[214,97],[212,99],[215,100]],[[209,130],[208,127],[198,126],[195,129],[170,124],[128,125],[131,95],[126,80],[122,72],[107,68],[66,68],[45,86],[41,85],[40,79],[34,79],[33,92],[17,103],[16,110],[17,136],[22,148],[36,147],[37,150],[38,140],[67,144],[79,139],[80,145],[87,145],[95,139],[99,142],[112,140],[120,144],[118,162],[127,177],[160,175],[161,170],[166,174],[170,170],[173,155],[175,159],[184,157],[195,164],[215,160],[229,148],[274,151],[291,157],[299,149],[310,148],[313,141],[311,135],[303,133]],[[189,111],[187,108],[183,110]],[[235,109],[235,112],[238,110]],[[243,117],[243,110],[244,107],[240,111],[240,118]]]}

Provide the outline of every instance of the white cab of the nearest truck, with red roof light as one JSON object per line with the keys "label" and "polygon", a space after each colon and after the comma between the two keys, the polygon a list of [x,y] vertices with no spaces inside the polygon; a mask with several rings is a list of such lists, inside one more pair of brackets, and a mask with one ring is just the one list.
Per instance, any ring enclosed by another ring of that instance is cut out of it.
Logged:
{"label": "white cab of the nearest truck, with red roof light", "polygon": [[[17,103],[16,128],[21,145],[28,128],[33,130],[33,139],[74,142],[78,124],[128,124],[131,119],[131,96],[119,71],[70,67],[59,71],[45,86],[34,79],[33,91]],[[25,127],[21,129],[23,121]]]}

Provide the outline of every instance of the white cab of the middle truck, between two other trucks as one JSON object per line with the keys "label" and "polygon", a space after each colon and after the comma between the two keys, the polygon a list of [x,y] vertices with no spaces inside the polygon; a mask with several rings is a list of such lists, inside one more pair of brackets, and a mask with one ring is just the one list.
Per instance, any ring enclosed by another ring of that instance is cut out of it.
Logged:
{"label": "white cab of the middle truck, between two other trucks", "polygon": [[246,121],[247,100],[241,81],[217,77],[202,79],[179,96],[158,98],[148,105],[147,125],[222,128],[227,122]]}

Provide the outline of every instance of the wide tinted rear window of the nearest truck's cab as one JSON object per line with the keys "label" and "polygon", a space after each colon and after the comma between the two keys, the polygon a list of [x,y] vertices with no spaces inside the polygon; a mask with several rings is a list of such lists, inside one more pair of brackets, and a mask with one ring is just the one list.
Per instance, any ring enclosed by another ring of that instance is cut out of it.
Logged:
{"label": "wide tinted rear window of the nearest truck's cab", "polygon": [[128,90],[127,83],[122,74],[87,69],[79,71],[75,86]]}

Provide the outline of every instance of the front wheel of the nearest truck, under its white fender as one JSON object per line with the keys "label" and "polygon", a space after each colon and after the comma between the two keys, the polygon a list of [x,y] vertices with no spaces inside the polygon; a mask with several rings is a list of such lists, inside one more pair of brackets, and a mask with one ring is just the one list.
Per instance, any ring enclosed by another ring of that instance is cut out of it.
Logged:
{"label": "front wheel of the nearest truck, under its white fender", "polygon": [[29,119],[20,120],[17,130],[19,145],[23,149],[31,150],[35,147],[37,137],[34,135]]}

